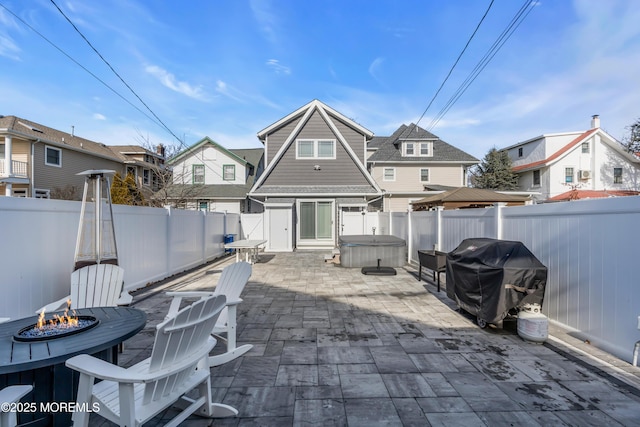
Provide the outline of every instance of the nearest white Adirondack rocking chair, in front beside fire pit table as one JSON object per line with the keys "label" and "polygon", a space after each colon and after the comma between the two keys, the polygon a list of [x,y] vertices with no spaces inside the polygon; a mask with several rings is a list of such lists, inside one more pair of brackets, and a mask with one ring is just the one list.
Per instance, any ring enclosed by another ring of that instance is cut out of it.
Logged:
{"label": "nearest white Adirondack rocking chair, in front beside fire pit table", "polygon": [[[187,407],[166,426],[177,426],[191,414],[227,417],[233,407],[212,402],[208,355],[216,345],[210,332],[225,306],[225,297],[212,296],[180,310],[156,327],[151,357],[122,368],[82,354],[66,365],[80,372],[78,405],[97,403],[101,417],[127,427],[140,426],[182,398]],[[94,384],[96,378],[103,381]],[[198,390],[197,398],[185,394]],[[181,402],[180,402],[181,403]],[[88,426],[88,411],[73,414],[74,426]]]}

